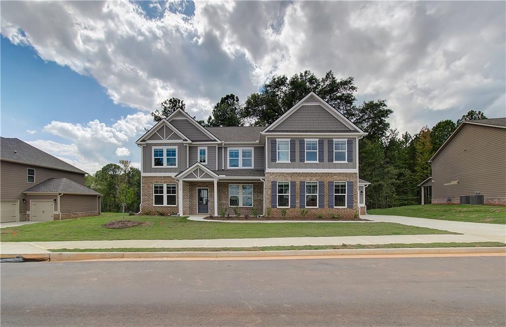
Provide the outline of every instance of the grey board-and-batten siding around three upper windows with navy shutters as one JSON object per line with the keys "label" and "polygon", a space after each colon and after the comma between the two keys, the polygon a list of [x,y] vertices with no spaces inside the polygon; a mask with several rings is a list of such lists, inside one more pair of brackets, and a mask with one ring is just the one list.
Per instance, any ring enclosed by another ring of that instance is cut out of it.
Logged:
{"label": "grey board-and-batten siding around three upper windows with navy shutters", "polygon": [[[334,164],[333,162],[328,161],[328,140],[340,139],[339,136],[334,138],[320,138],[319,140],[323,140],[323,162],[318,162],[314,164],[307,164],[306,162],[300,161],[301,148],[300,141],[304,139],[315,139],[314,137],[306,137],[306,138],[282,138],[282,137],[270,137],[266,139],[267,146],[267,168],[279,168],[279,169],[356,169],[357,168],[357,138],[346,138],[341,137],[342,139],[352,139],[353,140],[353,161],[347,162],[343,164]],[[276,139],[290,139],[295,140],[295,161],[287,162],[287,163],[277,163],[271,161],[271,140]],[[304,151],[304,149],[302,149]],[[303,152],[305,153],[305,152]]]}

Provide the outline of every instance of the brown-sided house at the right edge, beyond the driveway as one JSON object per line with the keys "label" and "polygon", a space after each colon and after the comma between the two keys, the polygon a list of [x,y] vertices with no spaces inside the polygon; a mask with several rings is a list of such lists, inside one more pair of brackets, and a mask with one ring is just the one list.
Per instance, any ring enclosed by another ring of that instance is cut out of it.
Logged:
{"label": "brown-sided house at the right edge, beyond the driveway", "polygon": [[486,205],[506,206],[506,118],[463,121],[429,162],[432,176],[418,184],[422,204],[479,194]]}

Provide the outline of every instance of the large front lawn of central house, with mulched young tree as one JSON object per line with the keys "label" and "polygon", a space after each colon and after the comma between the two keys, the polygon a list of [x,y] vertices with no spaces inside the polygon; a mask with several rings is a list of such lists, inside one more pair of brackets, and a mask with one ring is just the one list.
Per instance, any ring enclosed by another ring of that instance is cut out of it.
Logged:
{"label": "large front lawn of central house, with mulched young tree", "polygon": [[[357,236],[457,234],[449,231],[396,223],[220,223],[196,222],[182,217],[132,216],[131,220],[150,223],[125,229],[109,229],[103,224],[121,219],[121,214],[68,219],[2,228],[1,240],[66,241],[113,239],[216,239],[298,236]],[[16,235],[14,235],[16,233]]]}

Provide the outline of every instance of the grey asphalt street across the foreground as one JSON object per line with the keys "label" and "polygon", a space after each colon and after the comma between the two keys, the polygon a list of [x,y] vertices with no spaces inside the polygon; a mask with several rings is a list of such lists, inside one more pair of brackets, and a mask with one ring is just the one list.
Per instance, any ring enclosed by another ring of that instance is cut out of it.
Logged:
{"label": "grey asphalt street across the foreground", "polygon": [[3,327],[506,325],[506,258],[2,263]]}

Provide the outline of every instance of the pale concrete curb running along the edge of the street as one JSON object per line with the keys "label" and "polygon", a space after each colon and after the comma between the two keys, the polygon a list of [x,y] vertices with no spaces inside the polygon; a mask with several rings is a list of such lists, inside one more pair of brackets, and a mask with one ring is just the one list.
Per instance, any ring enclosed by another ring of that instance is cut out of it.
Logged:
{"label": "pale concrete curb running along the edge of the street", "polygon": [[[53,252],[20,254],[26,259],[46,261],[79,261],[104,259],[213,259],[213,258],[268,258],[268,257],[346,257],[382,255],[479,255],[506,254],[506,247],[490,248],[411,248],[411,249],[343,249],[343,250],[285,250],[285,251],[228,251],[228,252]],[[18,254],[1,254],[12,258]]]}

